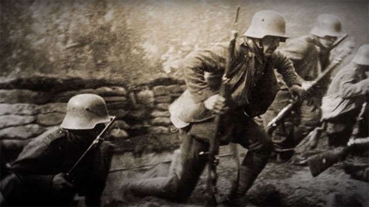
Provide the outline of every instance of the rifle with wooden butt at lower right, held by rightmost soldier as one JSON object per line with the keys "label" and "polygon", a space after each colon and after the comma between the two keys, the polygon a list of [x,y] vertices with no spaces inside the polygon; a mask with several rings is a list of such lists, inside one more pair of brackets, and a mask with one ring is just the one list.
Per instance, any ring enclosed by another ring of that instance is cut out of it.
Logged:
{"label": "rifle with wooden butt at lower right, held by rightmost soldier", "polygon": [[367,102],[363,103],[361,107],[360,114],[355,123],[353,133],[351,134],[350,141],[348,141],[347,146],[328,150],[322,154],[315,155],[308,159],[310,172],[313,177],[318,176],[320,173],[324,172],[334,164],[345,160],[348,154],[354,150],[355,145],[369,142],[369,137],[358,138],[361,128],[360,125],[364,119],[365,112],[367,112]]}

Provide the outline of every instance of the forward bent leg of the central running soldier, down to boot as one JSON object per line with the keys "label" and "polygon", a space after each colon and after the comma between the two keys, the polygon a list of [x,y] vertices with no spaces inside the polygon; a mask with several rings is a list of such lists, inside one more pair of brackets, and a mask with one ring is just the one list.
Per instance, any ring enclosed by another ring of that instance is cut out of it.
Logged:
{"label": "forward bent leg of the central running soldier, down to boot", "polygon": [[[240,166],[238,189],[231,190],[231,192],[235,193],[228,196],[231,204],[234,205],[243,202],[242,197],[252,187],[259,173],[267,165],[272,151],[269,136],[253,120],[247,119],[237,128],[239,130],[235,133],[235,142],[245,148],[249,148],[249,151]],[[241,201],[238,201],[238,199],[241,199]]]}

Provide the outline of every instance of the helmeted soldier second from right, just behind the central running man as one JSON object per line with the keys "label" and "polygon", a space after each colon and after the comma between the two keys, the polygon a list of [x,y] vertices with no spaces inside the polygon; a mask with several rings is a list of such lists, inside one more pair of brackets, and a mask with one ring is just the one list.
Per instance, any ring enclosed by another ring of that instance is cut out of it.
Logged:
{"label": "helmeted soldier second from right, just behind the central running man", "polygon": [[[333,43],[342,35],[341,20],[330,14],[321,14],[310,35],[301,36],[289,40],[280,51],[287,55],[293,62],[297,74],[301,77],[302,85],[306,89],[314,79],[324,71],[330,63],[330,52]],[[262,116],[264,127],[277,116],[278,112],[291,103],[292,97],[286,84],[277,75],[281,89],[278,91],[275,101]],[[279,126],[272,134],[272,141],[276,150],[291,148],[298,144],[319,123],[321,112],[320,99],[326,91],[326,86],[320,85],[314,97],[304,101],[300,109],[295,111],[297,116],[285,120],[284,126]],[[299,124],[294,130],[295,125]],[[288,159],[290,153],[285,153],[282,159]]]}

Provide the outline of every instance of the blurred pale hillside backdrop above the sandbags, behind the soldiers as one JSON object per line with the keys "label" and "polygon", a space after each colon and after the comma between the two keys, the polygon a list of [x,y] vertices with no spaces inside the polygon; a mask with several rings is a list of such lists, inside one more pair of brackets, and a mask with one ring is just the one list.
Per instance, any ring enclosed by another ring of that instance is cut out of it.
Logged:
{"label": "blurred pale hillside backdrop above the sandbags, behind the soldiers", "polygon": [[367,1],[1,1],[1,80],[35,75],[120,78],[129,84],[181,77],[190,51],[229,39],[255,12],[275,10],[290,37],[322,13],[338,16],[356,47],[368,43]]}

